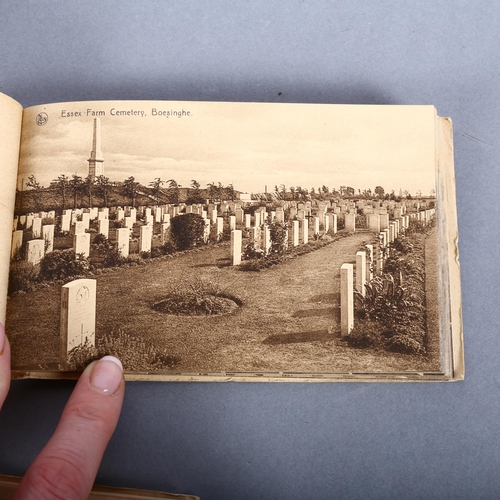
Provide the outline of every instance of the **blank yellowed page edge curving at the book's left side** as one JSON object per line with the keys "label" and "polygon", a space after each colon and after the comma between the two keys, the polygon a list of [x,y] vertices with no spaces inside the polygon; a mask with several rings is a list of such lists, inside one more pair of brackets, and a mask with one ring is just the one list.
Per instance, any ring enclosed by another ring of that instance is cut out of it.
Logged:
{"label": "blank yellowed page edge curving at the book's left side", "polygon": [[0,320],[4,323],[22,117],[22,106],[0,94]]}

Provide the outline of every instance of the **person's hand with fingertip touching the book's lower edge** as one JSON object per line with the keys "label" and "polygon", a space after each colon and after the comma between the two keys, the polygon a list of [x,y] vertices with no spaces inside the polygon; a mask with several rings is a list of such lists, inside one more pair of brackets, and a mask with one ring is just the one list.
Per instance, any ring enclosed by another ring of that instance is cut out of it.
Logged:
{"label": "person's hand with fingertip touching the book's lower edge", "polygon": [[[10,386],[10,345],[0,322],[0,409]],[[105,356],[84,370],[54,435],[26,471],[13,500],[86,499],[123,402],[120,361]]]}

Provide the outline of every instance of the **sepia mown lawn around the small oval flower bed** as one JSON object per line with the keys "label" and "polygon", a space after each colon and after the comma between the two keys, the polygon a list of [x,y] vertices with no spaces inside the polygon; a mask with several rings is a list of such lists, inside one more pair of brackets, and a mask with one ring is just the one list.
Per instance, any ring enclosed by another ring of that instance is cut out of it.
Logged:
{"label": "sepia mown lawn around the small oval flower bed", "polygon": [[[425,355],[349,347],[340,337],[340,266],[374,235],[357,232],[261,272],[229,265],[229,243],[96,276],[96,336],[142,339],[174,360],[173,372],[394,372],[439,370],[439,332]],[[437,282],[437,266],[432,271]],[[221,316],[152,309],[180,283],[211,283],[241,302]],[[430,308],[437,300],[429,300]],[[60,286],[9,298],[7,332],[16,369],[55,369]],[[436,317],[436,311],[434,311]],[[431,315],[432,316],[432,315]],[[434,325],[435,326],[435,325]],[[125,367],[133,356],[121,353]]]}

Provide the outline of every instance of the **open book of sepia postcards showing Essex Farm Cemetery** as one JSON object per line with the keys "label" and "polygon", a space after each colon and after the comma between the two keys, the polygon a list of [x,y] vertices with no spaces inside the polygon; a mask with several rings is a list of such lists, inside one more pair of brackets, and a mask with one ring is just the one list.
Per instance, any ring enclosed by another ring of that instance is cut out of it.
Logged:
{"label": "open book of sepia postcards showing Essex Farm Cemetery", "polygon": [[434,107],[0,96],[0,133],[15,376],[463,378]]}

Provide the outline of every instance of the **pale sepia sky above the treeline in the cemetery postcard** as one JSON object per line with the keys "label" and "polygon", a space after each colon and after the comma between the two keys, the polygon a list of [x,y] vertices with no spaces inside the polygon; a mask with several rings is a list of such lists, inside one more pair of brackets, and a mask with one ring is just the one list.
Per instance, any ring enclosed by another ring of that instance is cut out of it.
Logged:
{"label": "pale sepia sky above the treeline in the cemetery postcard", "polygon": [[[153,116],[158,111],[182,111]],[[102,112],[104,175],[144,185],[193,179],[244,192],[284,184],[351,186],[429,194],[435,188],[432,106],[103,101],[25,111],[20,179],[44,186],[61,174],[88,175],[93,113]],[[136,115],[120,115],[120,112]],[[46,113],[44,125],[36,116]],[[74,116],[81,113],[81,116]],[[19,186],[21,184],[19,183]]]}

